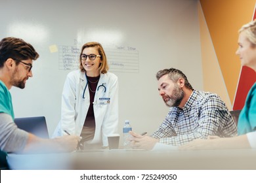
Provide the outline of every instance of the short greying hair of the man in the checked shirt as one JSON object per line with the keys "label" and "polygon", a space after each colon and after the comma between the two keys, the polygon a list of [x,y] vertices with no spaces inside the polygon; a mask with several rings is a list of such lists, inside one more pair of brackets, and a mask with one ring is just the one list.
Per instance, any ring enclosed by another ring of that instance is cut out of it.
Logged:
{"label": "short greying hair of the man in the checked shirt", "polygon": [[184,75],[179,69],[171,68],[160,70],[158,71],[158,73],[156,73],[156,78],[159,80],[163,75],[168,75],[170,80],[172,80],[173,82],[177,82],[179,78],[184,78],[186,88],[194,90],[191,84],[188,82],[186,75]]}

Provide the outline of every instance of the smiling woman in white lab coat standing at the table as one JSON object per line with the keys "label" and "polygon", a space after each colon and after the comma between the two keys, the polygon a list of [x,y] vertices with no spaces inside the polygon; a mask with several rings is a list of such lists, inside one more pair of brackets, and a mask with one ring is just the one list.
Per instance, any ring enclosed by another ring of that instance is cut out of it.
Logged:
{"label": "smiling woman in white lab coat standing at the table", "polygon": [[82,46],[79,63],[79,70],[66,78],[61,120],[53,136],[79,135],[84,149],[106,147],[108,135],[117,133],[117,76],[108,72],[106,54],[98,42]]}

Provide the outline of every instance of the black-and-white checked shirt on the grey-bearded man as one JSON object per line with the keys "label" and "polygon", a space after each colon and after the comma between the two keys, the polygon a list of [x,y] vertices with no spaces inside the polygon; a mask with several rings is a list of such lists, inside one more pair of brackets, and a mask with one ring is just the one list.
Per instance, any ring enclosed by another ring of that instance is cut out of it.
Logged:
{"label": "black-and-white checked shirt on the grey-bearded man", "polygon": [[152,137],[180,146],[208,135],[234,137],[237,127],[228,108],[215,93],[194,90],[183,108],[171,107]]}

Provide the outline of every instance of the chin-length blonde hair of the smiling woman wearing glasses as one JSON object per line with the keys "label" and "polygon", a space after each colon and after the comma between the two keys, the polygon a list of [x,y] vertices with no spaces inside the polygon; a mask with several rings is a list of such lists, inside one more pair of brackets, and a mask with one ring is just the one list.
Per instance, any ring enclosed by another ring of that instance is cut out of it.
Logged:
{"label": "chin-length blonde hair of the smiling woman wearing glasses", "polygon": [[[107,61],[104,49],[102,48],[100,43],[98,43],[98,42],[87,42],[87,43],[83,44],[83,46],[81,48],[80,56],[83,54],[83,50],[85,48],[89,48],[89,47],[95,47],[95,48],[98,49],[98,54],[100,54],[100,60],[101,60],[100,67],[98,67],[98,70],[100,71],[100,73],[102,73],[102,74],[108,73],[108,69],[109,69],[108,61]],[[80,68],[81,72],[85,72],[85,68],[83,68],[83,65],[82,65],[81,57],[79,57],[79,63],[80,63],[79,68]]]}

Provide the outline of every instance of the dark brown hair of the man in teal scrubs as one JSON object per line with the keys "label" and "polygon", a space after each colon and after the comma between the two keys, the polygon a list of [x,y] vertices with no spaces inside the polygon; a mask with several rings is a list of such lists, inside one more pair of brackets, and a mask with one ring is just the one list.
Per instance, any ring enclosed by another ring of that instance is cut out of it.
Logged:
{"label": "dark brown hair of the man in teal scrubs", "polygon": [[35,52],[30,43],[19,38],[6,37],[0,41],[0,68],[9,58],[15,59],[15,61],[35,60],[39,58],[39,54]]}

